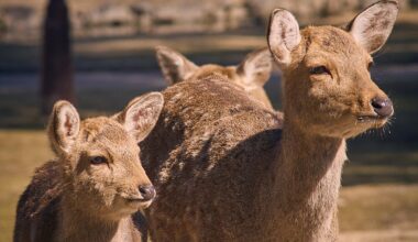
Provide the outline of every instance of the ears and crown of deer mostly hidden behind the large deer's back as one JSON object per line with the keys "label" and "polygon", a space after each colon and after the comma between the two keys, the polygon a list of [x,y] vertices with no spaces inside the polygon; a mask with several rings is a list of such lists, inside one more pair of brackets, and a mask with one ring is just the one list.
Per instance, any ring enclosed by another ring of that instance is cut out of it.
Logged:
{"label": "ears and crown of deer mostly hidden behind the large deer's back", "polygon": [[273,109],[263,86],[270,79],[273,58],[268,48],[248,54],[238,66],[220,66],[207,64],[197,66],[180,53],[166,46],[156,47],[158,65],[168,85],[186,79],[201,79],[213,73],[224,75],[227,79],[242,87],[250,97]]}

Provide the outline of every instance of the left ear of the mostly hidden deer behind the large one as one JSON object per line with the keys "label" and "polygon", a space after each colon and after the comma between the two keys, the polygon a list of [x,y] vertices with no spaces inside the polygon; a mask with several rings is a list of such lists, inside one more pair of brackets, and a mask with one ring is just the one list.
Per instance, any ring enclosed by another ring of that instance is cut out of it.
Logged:
{"label": "left ear of the mostly hidden deer behind the large one", "polygon": [[168,85],[173,85],[187,79],[198,68],[184,55],[166,46],[157,46],[155,51],[158,65]]}

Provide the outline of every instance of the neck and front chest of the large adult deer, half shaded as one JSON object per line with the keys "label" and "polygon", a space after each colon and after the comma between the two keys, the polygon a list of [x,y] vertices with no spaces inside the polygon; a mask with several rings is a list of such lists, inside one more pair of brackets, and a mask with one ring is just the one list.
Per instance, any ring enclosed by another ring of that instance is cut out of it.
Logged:
{"label": "neck and front chest of the large adult deer, half shaded", "polygon": [[288,238],[284,238],[287,241],[328,241],[337,232],[337,199],[346,160],[345,141],[309,134],[292,120],[286,116],[279,161],[272,169],[271,199],[276,201],[270,211],[274,215],[272,229],[288,231]]}

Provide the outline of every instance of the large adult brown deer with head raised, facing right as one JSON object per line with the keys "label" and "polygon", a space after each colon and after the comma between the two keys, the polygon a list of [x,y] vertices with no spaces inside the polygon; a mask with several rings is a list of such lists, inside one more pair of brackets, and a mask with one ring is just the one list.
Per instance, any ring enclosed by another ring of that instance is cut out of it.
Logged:
{"label": "large adult brown deer with head raised, facing right", "polygon": [[158,190],[145,210],[151,239],[337,241],[345,141],[394,114],[369,68],[397,13],[396,1],[380,1],[344,28],[299,30],[274,10],[267,42],[284,76],[284,119],[219,74],[165,89],[140,144]]}

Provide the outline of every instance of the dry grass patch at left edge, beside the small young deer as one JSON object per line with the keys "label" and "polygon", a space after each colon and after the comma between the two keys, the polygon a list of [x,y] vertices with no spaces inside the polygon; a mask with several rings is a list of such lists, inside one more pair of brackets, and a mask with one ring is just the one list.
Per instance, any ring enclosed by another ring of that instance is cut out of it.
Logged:
{"label": "dry grass patch at left edge, beside the small young deer", "polygon": [[0,241],[11,241],[19,196],[52,154],[41,131],[0,130]]}

